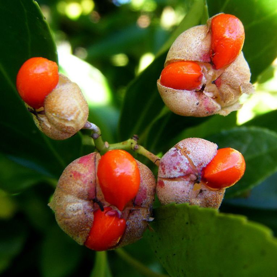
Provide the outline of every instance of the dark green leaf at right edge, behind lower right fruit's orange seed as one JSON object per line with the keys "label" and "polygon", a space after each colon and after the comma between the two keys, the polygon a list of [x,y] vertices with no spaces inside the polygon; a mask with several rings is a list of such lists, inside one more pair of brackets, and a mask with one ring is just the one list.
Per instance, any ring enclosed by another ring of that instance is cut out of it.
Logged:
{"label": "dark green leaf at right edge, behind lower right fruit's orange seed", "polygon": [[277,171],[277,134],[259,127],[238,127],[207,138],[219,148],[231,147],[244,156],[243,178],[226,190],[226,197],[240,195]]}

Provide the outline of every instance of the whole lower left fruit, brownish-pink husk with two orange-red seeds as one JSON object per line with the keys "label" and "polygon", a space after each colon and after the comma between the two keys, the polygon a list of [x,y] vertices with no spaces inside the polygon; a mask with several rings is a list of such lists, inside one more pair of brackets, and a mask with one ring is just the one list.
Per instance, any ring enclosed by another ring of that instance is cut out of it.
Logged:
{"label": "whole lower left fruit, brownish-pink husk with two orange-red seeds", "polygon": [[70,163],[49,206],[77,243],[102,251],[140,239],[155,195],[151,170],[124,150],[97,152]]}

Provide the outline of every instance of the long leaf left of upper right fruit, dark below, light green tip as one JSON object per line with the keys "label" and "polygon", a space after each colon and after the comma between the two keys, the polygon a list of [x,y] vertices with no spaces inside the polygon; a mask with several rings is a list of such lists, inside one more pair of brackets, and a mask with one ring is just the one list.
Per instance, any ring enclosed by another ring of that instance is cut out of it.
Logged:
{"label": "long leaf left of upper right fruit, dark below, light green tip", "polygon": [[141,135],[147,126],[153,124],[152,121],[159,117],[164,104],[158,93],[156,81],[163,69],[167,55],[165,51],[179,34],[201,22],[204,11],[203,3],[203,0],[187,2],[186,7],[191,9],[180,23],[180,27],[172,34],[172,38],[166,42],[151,65],[128,86],[119,122],[120,139],[128,139],[133,134]]}

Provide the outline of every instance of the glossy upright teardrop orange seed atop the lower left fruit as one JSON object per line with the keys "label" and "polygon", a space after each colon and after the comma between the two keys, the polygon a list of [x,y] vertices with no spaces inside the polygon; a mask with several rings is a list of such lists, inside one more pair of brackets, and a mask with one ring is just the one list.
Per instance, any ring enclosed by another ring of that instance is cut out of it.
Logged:
{"label": "glossy upright teardrop orange seed atop the lower left fruit", "polygon": [[139,167],[124,150],[105,153],[98,163],[97,177],[105,200],[120,211],[139,191]]}

